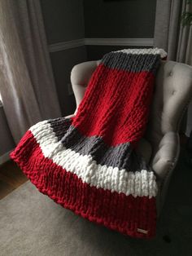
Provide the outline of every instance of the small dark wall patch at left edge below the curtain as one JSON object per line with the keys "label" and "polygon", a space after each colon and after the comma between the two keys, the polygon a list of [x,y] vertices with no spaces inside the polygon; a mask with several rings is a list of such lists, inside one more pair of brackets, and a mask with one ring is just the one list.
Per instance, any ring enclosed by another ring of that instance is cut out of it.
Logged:
{"label": "small dark wall patch at left edge below the curtain", "polygon": [[11,137],[11,131],[7,125],[7,119],[3,108],[0,107],[0,157],[15,148],[15,143]]}

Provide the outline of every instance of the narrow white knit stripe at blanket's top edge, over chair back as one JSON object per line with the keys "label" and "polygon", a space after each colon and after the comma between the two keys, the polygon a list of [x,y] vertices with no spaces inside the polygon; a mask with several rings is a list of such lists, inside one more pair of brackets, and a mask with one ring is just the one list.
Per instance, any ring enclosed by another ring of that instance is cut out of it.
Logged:
{"label": "narrow white knit stripe at blanket's top edge, over chair back", "polygon": [[124,49],[120,51],[113,51],[113,52],[124,52],[127,54],[134,54],[134,55],[160,55],[162,59],[167,56],[167,52],[164,49],[160,48],[149,48],[149,49]]}

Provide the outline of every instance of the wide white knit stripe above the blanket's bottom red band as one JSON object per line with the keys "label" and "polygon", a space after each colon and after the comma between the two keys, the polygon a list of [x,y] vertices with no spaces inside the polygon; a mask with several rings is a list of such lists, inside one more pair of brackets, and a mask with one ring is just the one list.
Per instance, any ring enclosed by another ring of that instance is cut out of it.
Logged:
{"label": "wide white knit stripe above the blanket's bottom red band", "polygon": [[64,148],[48,121],[38,122],[30,128],[34,138],[41,147],[43,155],[58,166],[76,174],[83,183],[96,188],[109,189],[111,192],[123,192],[126,196],[156,196],[155,174],[151,171],[141,172],[119,170],[117,167],[101,166],[90,155],[81,155],[69,148]]}

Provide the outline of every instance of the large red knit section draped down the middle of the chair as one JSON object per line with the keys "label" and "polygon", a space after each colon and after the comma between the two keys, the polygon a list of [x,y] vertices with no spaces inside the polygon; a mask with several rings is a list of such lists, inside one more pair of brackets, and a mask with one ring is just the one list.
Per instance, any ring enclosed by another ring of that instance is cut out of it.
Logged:
{"label": "large red knit section draped down the middle of the chair", "polygon": [[99,64],[72,125],[85,136],[103,137],[109,145],[137,143],[146,130],[154,78],[153,73]]}

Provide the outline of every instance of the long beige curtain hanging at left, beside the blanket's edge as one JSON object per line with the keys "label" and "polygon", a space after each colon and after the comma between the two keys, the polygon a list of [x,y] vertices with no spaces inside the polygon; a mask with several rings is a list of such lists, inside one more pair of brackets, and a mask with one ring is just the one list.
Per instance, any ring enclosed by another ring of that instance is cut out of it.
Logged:
{"label": "long beige curtain hanging at left, beside the blanket's edge", "polygon": [[0,1],[0,93],[15,143],[60,116],[39,0]]}

